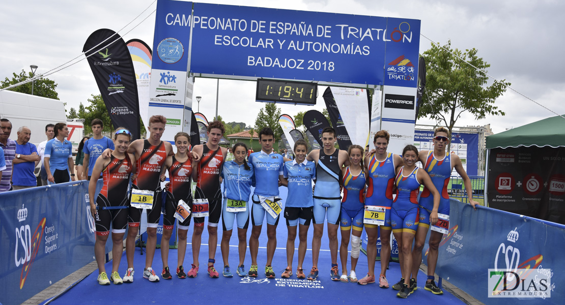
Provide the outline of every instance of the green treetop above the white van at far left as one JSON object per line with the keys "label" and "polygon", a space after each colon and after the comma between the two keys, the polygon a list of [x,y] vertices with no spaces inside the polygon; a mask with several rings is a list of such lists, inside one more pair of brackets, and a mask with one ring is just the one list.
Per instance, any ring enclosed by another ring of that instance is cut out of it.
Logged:
{"label": "green treetop above the white van at far left", "polygon": [[[14,76],[12,79],[4,79],[0,83],[1,88],[6,88],[11,85],[15,85],[16,83],[23,82],[29,78],[33,77],[31,72],[25,72],[23,69],[21,70],[20,74],[13,73]],[[54,81],[51,81],[49,78],[38,78],[33,81],[33,95],[43,96],[44,98],[50,99],[59,99],[59,94],[55,91],[57,84]],[[32,94],[32,82],[24,83],[18,87],[8,89],[10,91],[21,92],[25,94]]]}

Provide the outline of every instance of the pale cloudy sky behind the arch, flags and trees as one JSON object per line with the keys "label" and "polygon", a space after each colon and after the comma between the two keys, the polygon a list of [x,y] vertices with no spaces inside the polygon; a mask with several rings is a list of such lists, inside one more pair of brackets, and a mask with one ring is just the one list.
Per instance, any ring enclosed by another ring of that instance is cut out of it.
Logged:
{"label": "pale cloudy sky behind the arch, flags and trees", "polygon": [[[491,67],[488,72],[506,79],[512,87],[554,112],[565,114],[565,60],[563,1],[379,1],[379,0],[234,0],[206,1],[230,5],[260,6],[371,16],[403,17],[421,20],[421,33],[444,45],[465,50],[477,48]],[[126,26],[145,8],[149,9]],[[11,1],[0,11],[0,78],[38,65],[37,73],[47,71],[80,56],[86,38],[97,29],[120,30],[125,41],[138,38],[153,45],[155,14],[153,0],[93,1]],[[149,16],[149,17],[147,17]],[[142,19],[147,19],[140,23]],[[133,29],[133,30],[131,30]],[[131,30],[128,34],[125,34]],[[420,53],[430,41],[420,37]],[[83,56],[84,57],[84,56]],[[98,87],[86,60],[49,76],[58,83],[59,98],[67,108],[86,103]],[[318,105],[323,109],[319,88]],[[234,94],[233,92],[236,92]],[[210,120],[215,114],[216,79],[197,78],[194,96],[202,96],[200,111]],[[463,115],[457,126],[490,123],[494,132],[554,116],[532,101],[507,91],[497,100],[504,117],[475,120]],[[220,80],[219,114],[224,121],[244,121],[253,125],[263,104],[255,102],[255,82]],[[237,105],[237,106],[234,106]],[[281,105],[282,113],[294,116],[308,106]],[[194,105],[194,109],[197,105]],[[430,120],[418,123],[434,124]]]}

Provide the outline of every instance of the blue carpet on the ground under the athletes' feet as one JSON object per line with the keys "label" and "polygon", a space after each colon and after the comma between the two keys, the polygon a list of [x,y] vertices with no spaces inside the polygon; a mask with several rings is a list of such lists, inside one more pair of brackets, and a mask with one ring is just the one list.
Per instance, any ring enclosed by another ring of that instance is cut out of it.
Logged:
{"label": "blue carpet on the ground under the athletes' feet", "polygon": [[[286,197],[286,189],[281,188],[281,197]],[[220,220],[221,221],[221,220]],[[247,231],[247,241],[251,234],[251,224]],[[221,259],[221,251],[219,242],[221,241],[221,223],[218,232],[218,249],[216,251],[216,264],[215,267],[220,273],[218,279],[210,279],[206,271],[206,262],[208,258],[208,234],[205,228],[202,235],[202,247],[200,250],[200,265],[198,277],[195,279],[178,279],[176,277],[176,261],[177,250],[169,250],[169,268],[173,276],[172,280],[163,280],[159,282],[149,282],[143,278],[143,269],[145,266],[145,254],[141,255],[139,248],[136,248],[136,255],[134,258],[134,266],[136,273],[134,275],[134,282],[132,284],[122,285],[98,285],[97,276],[98,270],[94,271],[91,275],[87,276],[84,280],[73,286],[66,293],[59,298],[53,300],[51,304],[147,304],[147,303],[185,303],[185,302],[205,302],[206,304],[272,304],[273,302],[282,304],[351,304],[352,302],[369,303],[379,300],[387,304],[390,302],[407,302],[407,303],[420,303],[420,304],[463,304],[461,300],[454,297],[449,292],[444,290],[443,295],[434,295],[429,291],[423,289],[426,275],[422,272],[418,277],[418,290],[414,291],[407,299],[400,299],[396,296],[396,290],[392,288],[382,289],[379,288],[378,279],[375,284],[358,285],[351,283],[342,283],[340,281],[332,281],[329,276],[331,268],[331,257],[328,247],[328,238],[325,235],[321,241],[321,251],[318,263],[320,275],[318,281],[298,280],[295,275],[290,279],[280,279],[280,275],[284,268],[286,268],[286,223],[284,218],[280,220],[277,228],[277,250],[273,258],[273,269],[275,270],[277,279],[265,279],[264,265],[266,261],[266,245],[267,245],[267,228],[266,221],[263,223],[263,232],[259,238],[259,277],[253,279],[250,277],[239,277],[235,273],[238,264],[237,254],[237,230],[234,229],[232,234],[229,254],[229,263],[234,274],[234,277],[228,278],[221,275],[223,263]],[[192,236],[192,226],[189,229],[188,240]],[[234,226],[236,228],[236,226]],[[312,241],[313,228],[310,226],[308,232],[308,250],[303,265],[306,275],[312,267],[311,255],[311,241]],[[341,241],[340,233],[338,233],[338,240]],[[295,241],[295,246],[298,247],[298,238]],[[349,249],[351,250],[351,249]],[[293,273],[297,267],[298,250],[294,253]],[[338,262],[340,258],[338,255]],[[349,260],[348,260],[349,262]],[[185,272],[190,269],[192,263],[192,250],[190,244],[187,245],[185,256]],[[245,268],[249,270],[251,258],[249,248],[246,252]],[[341,263],[339,264],[341,274]],[[348,266],[348,272],[349,272]],[[380,263],[376,262],[376,274],[379,275]],[[106,264],[106,270],[111,270],[111,262]],[[155,251],[153,260],[153,268],[160,276],[162,270],[162,260],[160,250]],[[119,273],[124,275],[127,269],[127,262],[124,255],[121,258]],[[367,257],[364,254],[359,256],[357,265],[357,276],[362,278],[367,273]],[[390,263],[390,268],[386,272],[390,285],[396,283],[400,279],[400,267],[398,263]],[[109,277],[109,275],[108,275]]]}

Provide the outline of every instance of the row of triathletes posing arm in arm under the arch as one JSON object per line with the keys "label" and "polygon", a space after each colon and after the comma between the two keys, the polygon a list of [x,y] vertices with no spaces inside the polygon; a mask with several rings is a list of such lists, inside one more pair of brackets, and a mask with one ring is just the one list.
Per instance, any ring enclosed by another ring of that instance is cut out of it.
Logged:
{"label": "row of triathletes posing arm in arm under the arch", "polygon": [[[398,297],[407,298],[418,289],[416,279],[421,251],[428,230],[431,229],[428,240],[428,274],[423,288],[433,294],[443,293],[434,282],[434,271],[438,245],[443,234],[449,229],[449,196],[446,187],[453,169],[462,176],[471,205],[474,207],[477,204],[472,198],[471,181],[459,157],[446,153],[450,135],[445,127],[438,127],[434,131],[433,151],[418,151],[413,145],[407,145],[402,154],[387,151],[390,134],[385,130],[375,134],[375,148],[370,152],[366,152],[360,145],[351,145],[347,151],[337,149],[336,132],[327,127],[321,134],[322,148],[308,153],[308,144],[304,140],[298,140],[293,148],[295,158],[289,160],[273,151],[274,133],[268,127],[259,132],[262,148],[260,152],[251,153],[244,143],[236,143],[229,150],[220,147],[219,142],[225,129],[219,121],[208,125],[206,144],[191,147],[188,134],[176,134],[175,153],[171,143],[160,139],[166,122],[163,116],[151,117],[149,137],[133,142],[127,129],[118,128],[113,139],[115,149],[106,149],[92,165],[89,197],[97,233],[94,251],[99,268],[99,284],[133,282],[134,248],[142,210],[145,209],[147,255],[143,277],[151,282],[158,282],[160,277],[165,280],[171,280],[173,277],[168,265],[168,245],[175,222],[179,238],[176,276],[179,279],[198,276],[201,267],[199,252],[206,219],[206,271],[209,277],[220,276],[214,264],[218,246],[218,225],[221,220],[221,275],[232,277],[235,273],[241,277],[262,276],[259,275],[262,272],[259,272],[258,249],[263,223],[266,222],[267,256],[264,275],[267,279],[273,279],[277,277],[272,267],[277,245],[276,230],[282,219],[286,222],[288,231],[287,266],[280,275],[283,279],[295,277],[320,280],[318,258],[325,225],[325,235],[329,240],[331,253],[331,266],[328,266],[331,280],[356,282],[360,285],[378,281],[379,287],[388,289],[392,286],[392,289],[398,291]],[[228,153],[233,154],[232,161],[226,160]],[[423,165],[422,168],[416,166],[418,161]],[[155,171],[155,168],[159,170]],[[169,182],[161,188],[161,183],[166,180],[167,170]],[[127,174],[116,175],[124,172]],[[104,184],[99,195],[95,197],[95,185],[99,178],[103,179]],[[130,179],[131,188],[128,187]],[[196,182],[194,194],[191,180]],[[222,183],[223,192],[220,188]],[[424,190],[419,198],[420,185],[424,185]],[[281,186],[288,188],[285,202],[282,202],[279,196]],[[393,196],[394,194],[396,196]],[[152,266],[162,210],[163,236],[160,251],[163,269],[158,275]],[[192,263],[190,268],[185,270],[188,229],[192,220]],[[238,263],[233,272],[228,258],[234,223],[237,225]],[[249,223],[251,237],[248,245]],[[314,227],[314,234],[308,237],[308,228],[311,225]],[[125,246],[128,269],[121,277],[118,267],[123,251],[123,238],[128,227]],[[366,276],[358,279],[355,268],[359,259],[363,228],[368,238],[368,271]],[[110,230],[114,259],[108,276],[104,260],[105,244]],[[340,243],[338,232],[341,235]],[[398,242],[402,273],[401,279],[394,285],[389,285],[386,279],[391,233]],[[297,236],[298,259],[294,269]],[[381,266],[380,274],[376,277],[376,242],[379,236]],[[308,241],[311,241],[312,247],[310,272],[303,269]],[[244,260],[248,246],[251,264],[246,268]],[[341,272],[338,267],[338,248]]]}

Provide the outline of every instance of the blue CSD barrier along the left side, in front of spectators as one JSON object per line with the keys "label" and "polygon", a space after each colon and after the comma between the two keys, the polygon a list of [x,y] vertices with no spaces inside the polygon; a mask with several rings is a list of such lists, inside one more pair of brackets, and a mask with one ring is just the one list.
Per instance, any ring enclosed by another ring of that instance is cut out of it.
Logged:
{"label": "blue CSD barrier along the left side, in front of spectators", "polygon": [[94,260],[88,182],[4,192],[0,202],[0,303],[20,304]]}

